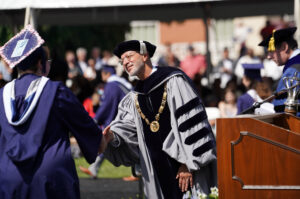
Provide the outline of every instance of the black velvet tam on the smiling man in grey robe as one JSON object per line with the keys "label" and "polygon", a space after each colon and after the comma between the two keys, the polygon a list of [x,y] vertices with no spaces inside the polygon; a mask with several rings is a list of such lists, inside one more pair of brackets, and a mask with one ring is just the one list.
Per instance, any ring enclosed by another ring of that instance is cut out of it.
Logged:
{"label": "black velvet tam on the smiling man in grey robe", "polygon": [[148,53],[149,56],[152,57],[156,46],[147,41],[129,40],[119,43],[114,49],[114,54],[121,58],[121,55],[129,50],[137,51],[142,55]]}

